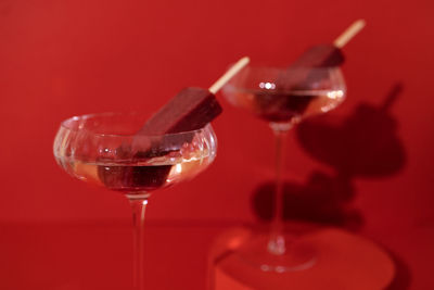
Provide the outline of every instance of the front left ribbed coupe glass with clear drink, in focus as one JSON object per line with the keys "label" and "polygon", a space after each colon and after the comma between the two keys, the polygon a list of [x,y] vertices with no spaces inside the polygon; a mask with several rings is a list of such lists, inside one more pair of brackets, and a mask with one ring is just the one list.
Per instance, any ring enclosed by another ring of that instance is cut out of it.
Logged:
{"label": "front left ribbed coupe glass with clear drink, in focus", "polygon": [[145,136],[145,118],[103,113],[64,121],[54,140],[59,165],[73,177],[118,191],[129,200],[135,224],[135,289],[143,289],[143,222],[152,192],[190,179],[215,159],[217,139],[202,129]]}

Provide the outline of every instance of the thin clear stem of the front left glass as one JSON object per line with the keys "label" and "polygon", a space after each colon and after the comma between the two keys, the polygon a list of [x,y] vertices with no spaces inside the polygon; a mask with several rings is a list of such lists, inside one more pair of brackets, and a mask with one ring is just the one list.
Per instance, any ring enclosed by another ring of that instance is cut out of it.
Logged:
{"label": "thin clear stem of the front left glass", "polygon": [[132,210],[133,229],[133,289],[143,290],[143,225],[148,193],[127,194]]}

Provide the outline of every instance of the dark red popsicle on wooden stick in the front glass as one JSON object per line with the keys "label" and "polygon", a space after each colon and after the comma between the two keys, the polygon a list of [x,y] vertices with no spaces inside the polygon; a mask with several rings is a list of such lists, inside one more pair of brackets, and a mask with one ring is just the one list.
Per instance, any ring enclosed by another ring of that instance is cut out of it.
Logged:
{"label": "dark red popsicle on wooden stick in the front glass", "polygon": [[[179,140],[176,135],[167,138],[165,135],[203,128],[218,116],[221,113],[221,106],[215,93],[248,61],[248,58],[241,59],[209,89],[190,87],[181,90],[143,125],[130,146],[118,148],[119,154],[125,152],[127,155],[132,154],[133,159],[153,159],[168,154],[171,150],[179,150],[184,142],[189,142],[194,137],[194,133],[179,136]],[[143,136],[155,137],[143,138]],[[136,185],[152,190],[166,182],[171,167],[171,165],[103,166],[99,167],[98,174],[107,188],[129,189],[129,185]]]}

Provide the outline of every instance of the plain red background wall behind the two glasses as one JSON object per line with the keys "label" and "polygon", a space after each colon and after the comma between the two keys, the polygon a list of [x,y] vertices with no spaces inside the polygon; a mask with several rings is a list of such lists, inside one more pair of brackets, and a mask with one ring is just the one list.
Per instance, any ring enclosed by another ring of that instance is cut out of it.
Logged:
{"label": "plain red background wall behind the two glasses", "polygon": [[[363,17],[367,27],[344,49],[348,98],[330,115],[345,119],[362,103],[380,106],[401,84],[385,113],[396,127],[383,133],[398,140],[405,162],[390,175],[354,177],[350,204],[366,232],[423,227],[403,243],[434,241],[433,10],[429,0],[3,0],[0,222],[129,219],[120,194],[73,180],[58,167],[52,141],[62,119],[106,111],[150,114],[184,86],[209,86],[240,56],[285,65]],[[266,124],[220,99],[215,164],[195,180],[154,194],[150,220],[256,218],[252,190],[271,177],[272,136]],[[296,130],[286,155],[288,177],[296,180],[333,172],[303,148]]]}

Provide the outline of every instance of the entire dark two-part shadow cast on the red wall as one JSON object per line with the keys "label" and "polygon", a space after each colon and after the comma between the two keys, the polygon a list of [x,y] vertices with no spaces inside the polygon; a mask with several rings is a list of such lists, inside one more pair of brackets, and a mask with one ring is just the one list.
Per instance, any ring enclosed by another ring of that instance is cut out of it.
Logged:
{"label": "entire dark two-part shadow cast on the red wall", "polygon": [[[384,178],[404,168],[406,152],[396,134],[391,106],[403,91],[395,84],[381,105],[360,103],[346,117],[333,114],[306,119],[296,128],[304,150],[333,168],[333,174],[312,171],[306,181],[285,181],[283,216],[357,230],[363,218],[350,204],[357,192],[354,180]],[[260,219],[271,219],[275,182],[267,180],[253,192],[252,206]]]}

